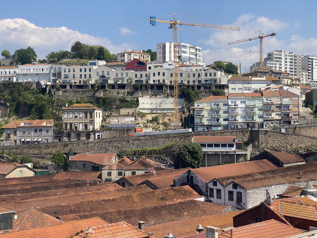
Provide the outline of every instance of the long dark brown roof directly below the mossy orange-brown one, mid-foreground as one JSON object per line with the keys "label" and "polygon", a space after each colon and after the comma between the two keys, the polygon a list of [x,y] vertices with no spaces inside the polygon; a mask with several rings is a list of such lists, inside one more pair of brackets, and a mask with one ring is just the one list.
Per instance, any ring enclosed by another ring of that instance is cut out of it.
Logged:
{"label": "long dark brown roof directly below the mossy orange-brown one, mid-foreground", "polygon": [[[223,205],[219,206],[223,207]],[[207,212],[204,209],[206,209]],[[144,221],[146,225],[154,225],[163,222],[216,214],[219,213],[218,210],[219,209],[216,207],[210,209],[210,206],[199,206],[195,200],[187,200],[160,205],[153,203],[151,207],[144,208],[121,208],[115,211],[96,211],[91,213],[65,215],[61,216],[61,219],[63,221],[74,221],[98,216],[109,223],[124,220],[130,224],[137,224],[138,221]]]}

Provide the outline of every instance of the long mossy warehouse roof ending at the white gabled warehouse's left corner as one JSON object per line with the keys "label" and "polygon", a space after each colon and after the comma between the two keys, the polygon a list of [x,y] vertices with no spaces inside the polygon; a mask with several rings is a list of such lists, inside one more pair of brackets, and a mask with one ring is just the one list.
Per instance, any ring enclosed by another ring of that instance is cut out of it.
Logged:
{"label": "long mossy warehouse roof ending at the white gabled warehouse's left corner", "polygon": [[[141,186],[137,186],[138,188]],[[127,189],[127,188],[126,188]],[[131,187],[130,187],[131,189]],[[71,214],[80,214],[84,212],[114,211],[122,208],[140,208],[152,207],[153,204],[163,205],[193,199],[199,196],[197,192],[189,186],[177,188],[158,189],[144,193],[125,195],[114,198],[99,200],[90,200],[68,204],[52,205],[38,208],[48,215],[63,216]]]}

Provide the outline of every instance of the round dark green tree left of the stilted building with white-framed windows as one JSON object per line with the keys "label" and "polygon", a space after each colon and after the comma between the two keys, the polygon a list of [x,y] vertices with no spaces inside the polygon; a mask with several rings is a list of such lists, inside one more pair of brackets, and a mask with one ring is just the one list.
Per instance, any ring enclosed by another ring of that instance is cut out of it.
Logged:
{"label": "round dark green tree left of the stilted building with white-framed windows", "polygon": [[179,147],[179,158],[182,167],[200,168],[203,159],[203,148],[196,143],[184,143]]}

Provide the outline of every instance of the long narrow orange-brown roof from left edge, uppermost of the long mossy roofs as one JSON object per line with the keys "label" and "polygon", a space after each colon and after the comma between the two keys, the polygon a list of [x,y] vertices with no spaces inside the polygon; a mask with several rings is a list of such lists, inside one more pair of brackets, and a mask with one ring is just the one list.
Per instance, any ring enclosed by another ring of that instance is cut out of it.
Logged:
{"label": "long narrow orange-brown roof from left edge, uppermost of the long mossy roofs", "polygon": [[[113,187],[112,187],[113,186]],[[117,186],[115,188],[115,184],[110,185],[109,188],[106,186],[96,186],[99,188],[99,190],[96,191],[96,189],[93,189],[91,191],[86,191],[83,189],[83,191],[79,191],[76,193],[71,193],[67,195],[59,195],[57,196],[57,193],[54,196],[51,197],[44,197],[44,198],[33,198],[29,200],[11,200],[11,201],[5,201],[0,203],[2,207],[4,208],[30,208],[30,207],[48,207],[48,206],[56,206],[60,204],[73,204],[73,203],[80,203],[80,202],[86,202],[91,200],[98,200],[98,199],[106,199],[106,198],[114,198],[114,197],[120,197],[120,196],[128,196],[132,194],[142,194],[146,192],[152,191],[151,188],[147,186],[137,186],[137,187],[130,187],[130,188],[122,188],[120,186]],[[54,214],[50,214],[55,217]]]}

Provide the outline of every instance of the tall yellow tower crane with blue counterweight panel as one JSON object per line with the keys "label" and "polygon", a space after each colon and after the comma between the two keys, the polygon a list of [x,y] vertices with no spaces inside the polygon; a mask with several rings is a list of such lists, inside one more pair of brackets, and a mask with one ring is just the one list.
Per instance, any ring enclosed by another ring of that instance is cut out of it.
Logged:
{"label": "tall yellow tower crane with blue counterweight panel", "polygon": [[178,88],[177,88],[177,25],[188,25],[188,26],[202,26],[202,27],[211,27],[211,28],[219,28],[219,29],[228,29],[228,30],[240,30],[239,27],[230,27],[230,26],[217,26],[212,24],[205,23],[191,23],[191,22],[180,22],[176,20],[176,13],[174,14],[173,21],[161,21],[156,20],[156,17],[150,17],[148,19],[153,26],[156,26],[156,22],[164,22],[169,23],[170,29],[173,29],[173,56],[174,56],[174,122],[178,122]]}

